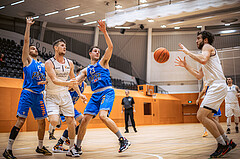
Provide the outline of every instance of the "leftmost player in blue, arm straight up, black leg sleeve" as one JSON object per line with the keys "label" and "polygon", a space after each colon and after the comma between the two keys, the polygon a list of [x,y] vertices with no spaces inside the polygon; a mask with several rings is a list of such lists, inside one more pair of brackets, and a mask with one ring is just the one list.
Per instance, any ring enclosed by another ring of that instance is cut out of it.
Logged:
{"label": "leftmost player in blue, arm straight up, black leg sleeve", "polygon": [[38,123],[38,147],[36,152],[42,153],[43,155],[52,155],[52,153],[43,146],[45,118],[47,117],[42,94],[45,86],[38,85],[37,83],[45,80],[45,68],[43,63],[37,62],[38,51],[36,47],[29,46],[30,27],[33,24],[34,21],[32,18],[26,18],[26,30],[22,50],[24,72],[23,90],[18,104],[17,123],[11,130],[8,146],[3,153],[5,158],[16,158],[12,153],[12,145],[25,123],[29,108],[32,109],[33,116]]}

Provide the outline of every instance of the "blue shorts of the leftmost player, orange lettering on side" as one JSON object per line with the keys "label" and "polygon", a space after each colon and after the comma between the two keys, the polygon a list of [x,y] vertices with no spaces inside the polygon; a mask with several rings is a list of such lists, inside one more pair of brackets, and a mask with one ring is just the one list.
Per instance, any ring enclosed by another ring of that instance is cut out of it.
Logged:
{"label": "blue shorts of the leftmost player, orange lettering on side", "polygon": [[45,119],[47,117],[43,94],[22,90],[18,104],[17,117],[27,118],[29,108],[32,109],[33,116],[36,120]]}

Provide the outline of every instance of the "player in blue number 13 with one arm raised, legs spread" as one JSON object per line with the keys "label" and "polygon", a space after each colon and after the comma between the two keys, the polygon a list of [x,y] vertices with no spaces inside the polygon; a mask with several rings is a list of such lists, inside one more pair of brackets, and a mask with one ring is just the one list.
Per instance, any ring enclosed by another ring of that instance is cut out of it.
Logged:
{"label": "player in blue number 13 with one arm raised, legs spread", "polygon": [[104,34],[108,48],[100,59],[100,49],[97,46],[92,46],[89,50],[91,64],[83,69],[76,78],[77,81],[82,82],[87,77],[94,92],[84,110],[84,117],[77,137],[77,146],[81,149],[80,146],[86,133],[87,125],[99,113],[102,122],[119,138],[120,148],[118,152],[123,152],[130,146],[130,142],[122,136],[117,125],[109,118],[115,98],[109,72],[109,60],[112,56],[113,44],[107,33],[105,22],[99,20],[98,24],[99,29]]}

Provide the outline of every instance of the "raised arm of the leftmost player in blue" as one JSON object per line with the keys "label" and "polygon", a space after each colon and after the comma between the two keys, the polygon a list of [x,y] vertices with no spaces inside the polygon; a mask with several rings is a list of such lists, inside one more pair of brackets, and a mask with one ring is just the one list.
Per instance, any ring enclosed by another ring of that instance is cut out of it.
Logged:
{"label": "raised arm of the leftmost player in blue", "polygon": [[22,50],[22,62],[23,66],[28,66],[31,63],[31,57],[29,56],[29,36],[30,36],[30,27],[34,24],[33,18],[26,18],[26,30],[24,35],[24,44]]}

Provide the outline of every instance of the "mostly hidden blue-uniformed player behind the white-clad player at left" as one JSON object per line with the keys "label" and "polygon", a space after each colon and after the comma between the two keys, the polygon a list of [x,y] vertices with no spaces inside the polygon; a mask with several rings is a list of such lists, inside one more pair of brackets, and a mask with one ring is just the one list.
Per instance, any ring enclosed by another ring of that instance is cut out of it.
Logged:
{"label": "mostly hidden blue-uniformed player behind the white-clad player at left", "polygon": [[[77,72],[77,76],[79,75],[80,71],[81,71],[81,69],[78,68],[77,71],[76,71],[76,72]],[[87,87],[87,84],[86,84],[85,82],[82,82],[82,83],[79,85],[79,89],[80,89],[81,93],[83,93],[84,88],[86,88],[86,87]],[[79,99],[79,95],[78,95],[78,93],[77,93],[76,91],[74,91],[72,88],[69,90],[69,93],[70,93],[70,95],[71,95],[71,97],[72,97],[73,105],[75,105],[75,104],[77,103],[78,99]],[[60,117],[61,117],[62,122],[65,122],[65,121],[66,121],[64,116],[61,115]],[[79,125],[76,126],[76,131],[75,131],[75,133],[76,133],[76,135],[77,135],[77,133],[78,133],[78,128],[79,128],[79,126],[80,126],[80,124],[81,124],[81,121],[82,121],[82,118],[83,118],[83,114],[80,113],[80,112],[78,112],[76,108],[74,108],[74,118],[75,118],[75,120],[79,123]],[[63,145],[64,142],[65,142],[67,145],[69,144],[69,140],[68,140],[68,129],[66,129],[66,130],[63,132],[63,135],[62,135],[61,138],[58,140],[58,143],[53,147],[52,151],[53,151],[53,152],[67,152],[68,150],[67,150],[67,149],[64,149],[64,148],[62,147],[62,145]]]}

